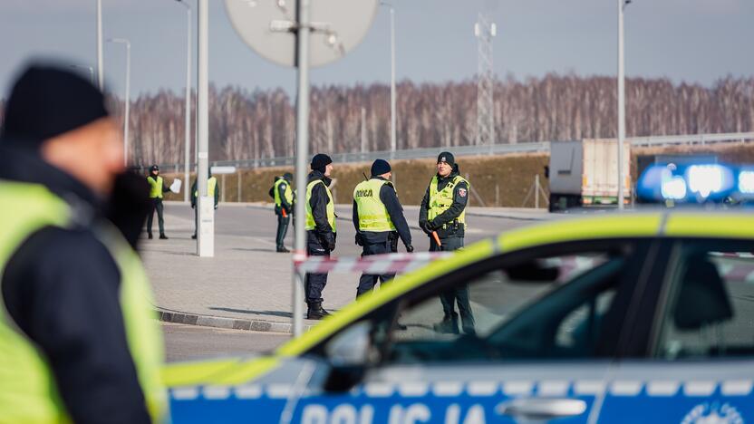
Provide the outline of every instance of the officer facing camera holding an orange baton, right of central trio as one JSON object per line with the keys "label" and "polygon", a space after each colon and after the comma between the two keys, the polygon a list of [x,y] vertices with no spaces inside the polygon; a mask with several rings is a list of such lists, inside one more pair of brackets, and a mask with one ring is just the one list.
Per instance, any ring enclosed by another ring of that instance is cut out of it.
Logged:
{"label": "officer facing camera holding an orange baton, right of central trio", "polygon": [[[437,158],[437,175],[430,181],[419,210],[419,226],[430,236],[430,252],[458,250],[463,247],[468,200],[469,181],[459,175],[453,155],[443,151]],[[440,240],[440,245],[435,241],[435,235]],[[469,304],[468,284],[441,294],[440,303],[443,319],[435,325],[436,331],[459,332],[459,315],[455,312],[455,304],[458,303],[463,331],[476,333],[474,315]]]}

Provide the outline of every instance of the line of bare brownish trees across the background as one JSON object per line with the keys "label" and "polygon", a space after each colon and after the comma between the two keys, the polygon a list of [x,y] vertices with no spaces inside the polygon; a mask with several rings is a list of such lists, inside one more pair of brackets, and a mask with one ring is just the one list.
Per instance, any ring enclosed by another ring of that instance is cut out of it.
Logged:
{"label": "line of bare brownish trees across the background", "polygon": [[[497,142],[615,137],[616,95],[613,77],[551,73],[519,81],[508,76],[495,82]],[[122,117],[122,101],[111,99],[111,104]],[[390,121],[388,85],[314,86],[309,149],[332,153],[390,149]],[[398,84],[399,149],[473,145],[476,125],[475,81]],[[668,79],[626,81],[629,137],[752,129],[754,77],[728,76],[710,87]],[[192,137],[193,132],[192,128]],[[211,86],[209,143],[210,160],[294,156],[295,98],[282,89]],[[132,101],[133,163],[182,162],[183,146],[182,96],[160,91]]]}

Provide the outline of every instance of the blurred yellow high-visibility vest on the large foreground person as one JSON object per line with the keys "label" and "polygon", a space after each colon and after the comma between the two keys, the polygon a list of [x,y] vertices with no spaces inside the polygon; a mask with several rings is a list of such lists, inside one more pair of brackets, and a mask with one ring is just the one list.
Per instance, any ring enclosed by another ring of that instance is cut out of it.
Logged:
{"label": "blurred yellow high-visibility vest on the large foreground person", "polygon": [[[14,252],[45,226],[69,226],[71,209],[47,188],[0,180],[0,275]],[[107,224],[95,230],[121,274],[120,300],[126,338],[151,417],[167,417],[167,396],[160,380],[164,352],[160,327],[139,256]],[[70,417],[42,352],[15,325],[0,297],[0,415],[3,422],[68,422]]]}

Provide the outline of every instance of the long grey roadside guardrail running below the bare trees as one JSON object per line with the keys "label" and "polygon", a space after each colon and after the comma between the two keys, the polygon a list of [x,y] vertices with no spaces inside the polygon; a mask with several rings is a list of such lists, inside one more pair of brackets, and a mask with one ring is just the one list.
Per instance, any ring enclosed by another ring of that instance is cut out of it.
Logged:
{"label": "long grey roadside guardrail running below the bare trees", "polygon": [[[754,140],[754,132],[733,132],[719,134],[691,134],[678,136],[650,136],[650,137],[631,137],[626,141],[637,147],[663,147],[679,145],[706,145],[716,143],[745,142]],[[456,156],[472,155],[506,155],[511,153],[534,153],[546,152],[550,150],[550,143],[557,141],[538,141],[519,144],[493,144],[491,146],[453,146],[453,147],[432,147],[419,149],[406,149],[391,151],[366,151],[353,153],[333,153],[331,158],[334,162],[371,162],[374,159],[426,159],[435,157],[443,149],[452,150]],[[270,167],[291,167],[295,165],[294,156],[285,156],[278,158],[260,158],[260,159],[238,159],[238,160],[214,160],[210,166],[233,166],[237,169],[256,169]],[[192,167],[193,168],[193,167]],[[183,164],[160,164],[160,169],[183,170]]]}

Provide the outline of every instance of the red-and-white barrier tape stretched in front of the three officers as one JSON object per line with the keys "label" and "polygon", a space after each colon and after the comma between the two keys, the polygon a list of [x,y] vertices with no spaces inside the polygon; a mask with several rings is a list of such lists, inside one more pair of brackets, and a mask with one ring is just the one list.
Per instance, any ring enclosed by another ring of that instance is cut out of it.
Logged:
{"label": "red-and-white barrier tape stretched in front of the three officers", "polygon": [[295,269],[300,273],[366,273],[397,274],[413,271],[432,261],[448,257],[450,252],[395,253],[362,257],[326,257],[294,255]]}

